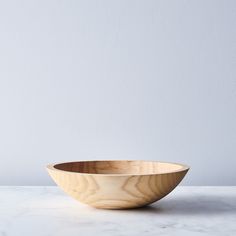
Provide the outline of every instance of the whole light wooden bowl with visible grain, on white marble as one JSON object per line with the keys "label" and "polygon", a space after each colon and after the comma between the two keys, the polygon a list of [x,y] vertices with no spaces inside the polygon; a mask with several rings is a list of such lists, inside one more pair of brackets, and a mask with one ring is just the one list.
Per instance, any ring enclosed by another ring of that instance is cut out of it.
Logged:
{"label": "whole light wooden bowl with visible grain, on white marble", "polygon": [[170,193],[189,167],[156,161],[77,161],[47,166],[67,194],[96,208],[145,206]]}

